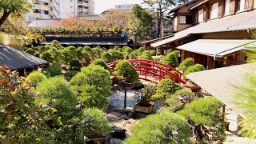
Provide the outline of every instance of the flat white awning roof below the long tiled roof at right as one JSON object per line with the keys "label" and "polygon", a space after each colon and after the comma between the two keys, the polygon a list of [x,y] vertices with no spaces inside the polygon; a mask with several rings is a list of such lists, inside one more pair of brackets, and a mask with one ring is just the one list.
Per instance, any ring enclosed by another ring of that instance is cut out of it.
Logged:
{"label": "flat white awning roof below the long tiled roof at right", "polygon": [[253,45],[256,40],[241,39],[198,39],[193,42],[178,46],[179,50],[186,50],[197,54],[212,57],[223,57],[239,50],[245,50],[245,46]]}

